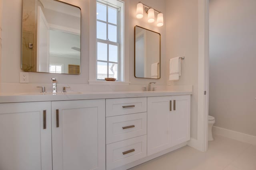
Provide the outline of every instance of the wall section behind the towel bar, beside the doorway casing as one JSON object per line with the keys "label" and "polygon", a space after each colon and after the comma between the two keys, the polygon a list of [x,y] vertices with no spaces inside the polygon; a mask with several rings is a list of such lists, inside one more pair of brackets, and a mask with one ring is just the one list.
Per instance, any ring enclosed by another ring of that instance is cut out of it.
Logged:
{"label": "wall section behind the towel bar, beside the doorway casing", "polygon": [[[180,80],[169,81],[170,85],[192,85],[191,137],[197,139],[198,119],[198,0],[166,1],[166,73],[169,60],[185,56],[181,61]],[[169,75],[169,74],[168,74]],[[168,76],[169,77],[169,76]]]}

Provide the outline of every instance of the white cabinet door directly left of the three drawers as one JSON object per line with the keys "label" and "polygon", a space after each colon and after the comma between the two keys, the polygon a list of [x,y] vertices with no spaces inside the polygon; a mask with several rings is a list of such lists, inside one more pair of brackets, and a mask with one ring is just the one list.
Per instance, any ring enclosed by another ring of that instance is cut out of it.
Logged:
{"label": "white cabinet door directly left of the three drawers", "polygon": [[105,170],[105,100],[52,102],[53,170]]}

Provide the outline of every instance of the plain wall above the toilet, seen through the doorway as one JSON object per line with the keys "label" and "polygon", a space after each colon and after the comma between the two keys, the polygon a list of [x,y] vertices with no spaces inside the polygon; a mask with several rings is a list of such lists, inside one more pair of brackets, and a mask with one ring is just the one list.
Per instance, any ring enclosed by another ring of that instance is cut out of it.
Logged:
{"label": "plain wall above the toilet, seen through the doorway", "polygon": [[256,1],[210,0],[210,103],[215,125],[256,136]]}

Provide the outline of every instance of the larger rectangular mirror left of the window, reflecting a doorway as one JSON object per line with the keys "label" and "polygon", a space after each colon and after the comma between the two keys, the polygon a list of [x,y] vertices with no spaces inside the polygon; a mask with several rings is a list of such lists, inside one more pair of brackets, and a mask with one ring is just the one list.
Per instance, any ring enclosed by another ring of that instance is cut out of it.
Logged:
{"label": "larger rectangular mirror left of the window, reflecting a doorway", "polygon": [[81,9],[58,0],[23,0],[21,68],[80,74]]}

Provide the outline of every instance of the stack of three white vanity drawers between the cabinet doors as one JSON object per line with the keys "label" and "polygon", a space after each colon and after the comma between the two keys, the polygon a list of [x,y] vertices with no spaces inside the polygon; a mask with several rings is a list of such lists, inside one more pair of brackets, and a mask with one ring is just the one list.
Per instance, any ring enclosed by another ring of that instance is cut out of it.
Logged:
{"label": "stack of three white vanity drawers between the cabinet doors", "polygon": [[106,170],[147,156],[147,98],[106,99]]}

